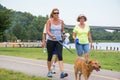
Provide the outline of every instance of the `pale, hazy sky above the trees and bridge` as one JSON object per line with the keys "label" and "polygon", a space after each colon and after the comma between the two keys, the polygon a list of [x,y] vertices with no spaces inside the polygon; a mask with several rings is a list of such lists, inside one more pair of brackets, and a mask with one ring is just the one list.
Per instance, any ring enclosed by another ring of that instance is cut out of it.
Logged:
{"label": "pale, hazy sky above the trees and bridge", "polygon": [[120,0],[0,0],[0,4],[34,16],[50,15],[58,8],[60,19],[67,25],[78,24],[77,17],[84,14],[86,24],[120,27]]}

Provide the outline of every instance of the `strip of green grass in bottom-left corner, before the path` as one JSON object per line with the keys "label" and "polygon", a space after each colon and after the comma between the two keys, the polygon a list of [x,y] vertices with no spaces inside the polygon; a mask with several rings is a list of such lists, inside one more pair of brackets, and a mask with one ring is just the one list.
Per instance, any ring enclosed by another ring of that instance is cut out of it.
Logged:
{"label": "strip of green grass in bottom-left corner, before the path", "polygon": [[36,76],[28,76],[26,74],[15,72],[12,70],[0,69],[0,80],[50,80]]}

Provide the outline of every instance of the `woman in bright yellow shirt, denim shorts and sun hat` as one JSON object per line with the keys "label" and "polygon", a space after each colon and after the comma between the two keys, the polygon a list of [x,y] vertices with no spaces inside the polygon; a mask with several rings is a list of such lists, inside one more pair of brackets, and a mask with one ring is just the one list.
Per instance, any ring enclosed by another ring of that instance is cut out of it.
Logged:
{"label": "woman in bright yellow shirt, denim shorts and sun hat", "polygon": [[85,24],[87,18],[83,14],[78,16],[77,21],[79,24],[77,24],[73,29],[73,39],[75,41],[78,56],[82,58],[82,54],[84,52],[85,59],[87,61],[89,59],[89,42],[90,48],[92,48],[90,27],[89,25]]}

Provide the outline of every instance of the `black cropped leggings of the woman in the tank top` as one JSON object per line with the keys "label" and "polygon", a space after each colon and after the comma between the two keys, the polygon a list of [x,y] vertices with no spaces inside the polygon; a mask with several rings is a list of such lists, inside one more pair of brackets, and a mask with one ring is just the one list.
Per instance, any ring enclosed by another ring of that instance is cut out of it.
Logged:
{"label": "black cropped leggings of the woman in the tank top", "polygon": [[47,40],[47,52],[48,52],[47,60],[51,61],[54,48],[56,48],[58,60],[62,61],[63,60],[63,57],[62,57],[63,46],[58,41],[51,41],[51,40]]}

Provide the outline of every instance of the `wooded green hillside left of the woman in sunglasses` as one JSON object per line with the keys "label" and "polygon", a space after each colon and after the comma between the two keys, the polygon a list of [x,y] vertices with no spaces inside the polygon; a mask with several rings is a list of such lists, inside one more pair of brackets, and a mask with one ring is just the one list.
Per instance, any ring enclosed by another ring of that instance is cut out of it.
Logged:
{"label": "wooded green hillside left of the woman in sunglasses", "polygon": [[48,15],[33,16],[27,12],[8,10],[0,5],[0,41],[40,40],[47,19]]}

